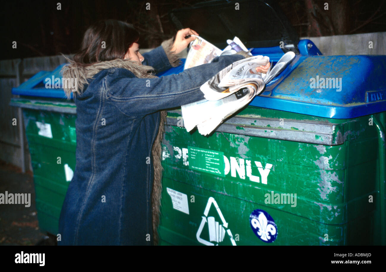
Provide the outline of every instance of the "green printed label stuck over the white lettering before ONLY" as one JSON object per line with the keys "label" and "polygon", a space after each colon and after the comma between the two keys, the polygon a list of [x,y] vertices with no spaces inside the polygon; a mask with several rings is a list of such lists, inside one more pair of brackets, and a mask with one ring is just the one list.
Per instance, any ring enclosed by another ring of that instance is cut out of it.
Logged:
{"label": "green printed label stuck over the white lettering before ONLY", "polygon": [[224,175],[224,152],[188,146],[189,168],[218,176]]}

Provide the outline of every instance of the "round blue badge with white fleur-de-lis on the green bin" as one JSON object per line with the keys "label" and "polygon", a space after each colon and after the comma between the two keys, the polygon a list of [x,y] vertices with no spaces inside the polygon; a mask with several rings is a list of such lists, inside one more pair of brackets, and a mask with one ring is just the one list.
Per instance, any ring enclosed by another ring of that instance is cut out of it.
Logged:
{"label": "round blue badge with white fleur-de-lis on the green bin", "polygon": [[249,222],[255,235],[263,242],[272,243],[278,237],[275,220],[266,211],[254,210],[249,216]]}

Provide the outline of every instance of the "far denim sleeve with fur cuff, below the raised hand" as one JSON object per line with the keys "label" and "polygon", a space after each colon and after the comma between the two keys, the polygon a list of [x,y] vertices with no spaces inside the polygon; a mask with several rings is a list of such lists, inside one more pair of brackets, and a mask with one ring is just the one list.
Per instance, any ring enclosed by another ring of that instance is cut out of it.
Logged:
{"label": "far denim sleeve with fur cuff, below the raised hand", "polygon": [[173,39],[165,40],[159,47],[143,54],[142,64],[151,66],[156,73],[177,67],[181,64],[179,57],[171,51]]}

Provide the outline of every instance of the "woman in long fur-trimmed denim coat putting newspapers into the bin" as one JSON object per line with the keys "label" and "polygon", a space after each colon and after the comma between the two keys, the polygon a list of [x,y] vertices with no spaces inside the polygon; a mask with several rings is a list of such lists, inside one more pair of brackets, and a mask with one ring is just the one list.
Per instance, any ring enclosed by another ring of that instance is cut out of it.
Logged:
{"label": "woman in long fur-trimmed denim coat putting newspapers into the bin", "polygon": [[86,30],[82,49],[62,70],[78,89],[76,167],[59,218],[59,245],[157,243],[166,120],[160,111],[203,99],[200,86],[244,58],[226,55],[180,74],[151,74],[178,66],[176,54],[195,39],[187,35],[198,34],[179,30],[174,42],[142,56],[132,25],[104,20]]}

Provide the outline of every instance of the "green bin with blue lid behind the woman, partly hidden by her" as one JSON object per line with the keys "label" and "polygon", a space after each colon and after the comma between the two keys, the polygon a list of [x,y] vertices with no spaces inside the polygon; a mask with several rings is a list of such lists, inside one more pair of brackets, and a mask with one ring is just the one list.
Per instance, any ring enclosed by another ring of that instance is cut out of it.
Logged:
{"label": "green bin with blue lid behind the woman, partly hidden by her", "polygon": [[58,233],[59,216],[75,170],[76,106],[63,89],[46,89],[45,79],[61,78],[60,65],[41,71],[17,88],[10,105],[23,109],[31,164],[34,172],[36,210],[43,232]]}

